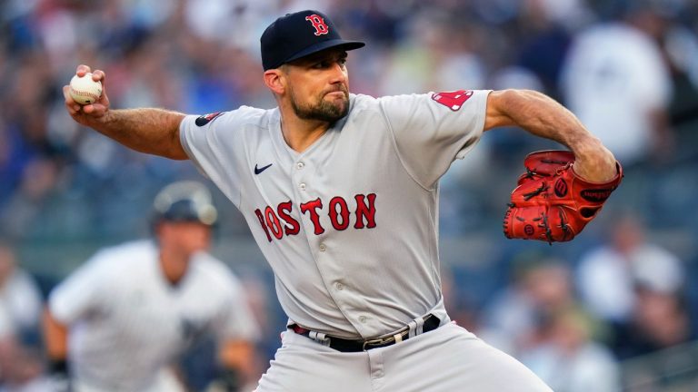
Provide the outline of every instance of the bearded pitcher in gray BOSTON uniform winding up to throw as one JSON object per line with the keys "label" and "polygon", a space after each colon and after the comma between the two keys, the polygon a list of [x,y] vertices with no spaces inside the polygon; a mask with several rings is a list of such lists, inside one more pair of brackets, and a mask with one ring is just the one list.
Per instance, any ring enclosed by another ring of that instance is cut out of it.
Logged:
{"label": "bearded pitcher in gray BOSTON uniform winding up to throw", "polygon": [[[344,40],[327,15],[302,11],[261,37],[272,110],[113,110],[106,93],[85,106],[65,93],[66,109],[137,151],[192,160],[242,211],[289,318],[257,391],[549,391],[449,319],[439,178],[496,127],[562,143],[564,159],[549,152],[527,160],[530,173],[505,221],[511,238],[558,241],[593,218],[620,166],[541,93],[349,93],[347,52],[362,46]],[[76,73],[89,71],[80,65]],[[106,82],[99,70],[93,78]],[[580,192],[592,201],[579,201]]]}

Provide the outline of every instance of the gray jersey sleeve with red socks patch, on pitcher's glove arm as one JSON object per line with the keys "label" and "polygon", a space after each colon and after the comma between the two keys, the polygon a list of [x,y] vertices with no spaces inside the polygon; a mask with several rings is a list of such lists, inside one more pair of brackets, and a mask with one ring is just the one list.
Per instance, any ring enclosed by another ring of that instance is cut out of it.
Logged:
{"label": "gray jersey sleeve with red socks patch, on pitcher's glove arm", "polygon": [[463,158],[484,131],[490,91],[388,96],[381,110],[405,169],[433,189],[456,158]]}

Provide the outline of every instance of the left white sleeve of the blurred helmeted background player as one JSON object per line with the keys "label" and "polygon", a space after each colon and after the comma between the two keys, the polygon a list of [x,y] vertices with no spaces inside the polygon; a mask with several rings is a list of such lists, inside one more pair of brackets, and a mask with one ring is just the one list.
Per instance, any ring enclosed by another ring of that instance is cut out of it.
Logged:
{"label": "left white sleeve of the blurred helmeted background player", "polygon": [[86,313],[100,309],[109,282],[107,266],[103,253],[97,253],[51,291],[48,305],[56,320],[70,325]]}

